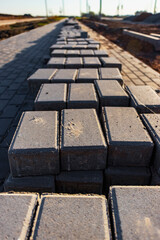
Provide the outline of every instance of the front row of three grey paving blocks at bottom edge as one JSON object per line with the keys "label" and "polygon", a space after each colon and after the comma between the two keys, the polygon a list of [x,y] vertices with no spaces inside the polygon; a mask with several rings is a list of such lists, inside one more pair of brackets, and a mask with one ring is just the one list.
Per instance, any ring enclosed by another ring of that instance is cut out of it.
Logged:
{"label": "front row of three grey paving blocks at bottom edge", "polygon": [[160,187],[98,195],[0,194],[1,239],[159,239]]}

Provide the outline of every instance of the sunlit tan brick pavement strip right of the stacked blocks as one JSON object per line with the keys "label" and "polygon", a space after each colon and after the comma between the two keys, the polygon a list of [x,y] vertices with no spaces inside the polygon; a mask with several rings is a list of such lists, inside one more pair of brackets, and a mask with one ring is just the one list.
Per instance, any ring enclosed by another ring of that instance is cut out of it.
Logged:
{"label": "sunlit tan brick pavement strip right of the stacked blocks", "polygon": [[122,75],[126,85],[149,85],[155,90],[160,90],[160,74],[158,72],[91,28],[80,25],[91,38],[101,43],[101,48],[107,50],[109,56],[116,57],[122,63]]}

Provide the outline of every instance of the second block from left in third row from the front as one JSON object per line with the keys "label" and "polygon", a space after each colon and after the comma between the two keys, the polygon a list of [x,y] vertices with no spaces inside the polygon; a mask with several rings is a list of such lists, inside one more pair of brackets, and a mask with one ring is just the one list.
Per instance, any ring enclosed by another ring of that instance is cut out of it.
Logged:
{"label": "second block from left in third row from the front", "polygon": [[69,85],[67,108],[95,108],[98,110],[98,106],[94,84],[73,83]]}

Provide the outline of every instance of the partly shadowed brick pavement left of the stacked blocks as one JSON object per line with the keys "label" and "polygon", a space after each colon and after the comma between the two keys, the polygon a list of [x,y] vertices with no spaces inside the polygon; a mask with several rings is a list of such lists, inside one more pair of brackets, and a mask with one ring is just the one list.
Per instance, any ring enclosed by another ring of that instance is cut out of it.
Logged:
{"label": "partly shadowed brick pavement left of the stacked blocks", "polygon": [[26,79],[43,67],[61,27],[52,23],[0,42],[0,185],[9,173],[7,151],[19,118],[33,109]]}

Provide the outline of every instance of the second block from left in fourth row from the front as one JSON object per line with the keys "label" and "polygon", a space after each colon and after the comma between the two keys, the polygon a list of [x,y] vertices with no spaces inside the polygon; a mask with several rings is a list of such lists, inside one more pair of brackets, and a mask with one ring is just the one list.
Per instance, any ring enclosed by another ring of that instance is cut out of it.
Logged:
{"label": "second block from left in fourth row from the front", "polygon": [[52,83],[74,83],[77,75],[76,69],[59,69],[52,78]]}

